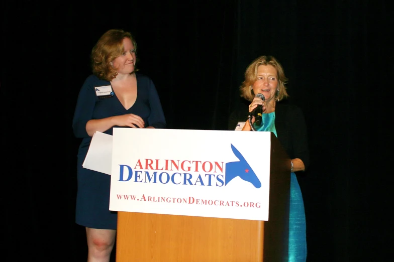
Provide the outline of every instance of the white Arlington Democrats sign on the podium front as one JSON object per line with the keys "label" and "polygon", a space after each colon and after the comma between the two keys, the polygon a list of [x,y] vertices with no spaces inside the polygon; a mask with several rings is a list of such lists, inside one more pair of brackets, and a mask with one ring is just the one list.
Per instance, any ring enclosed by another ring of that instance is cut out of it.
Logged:
{"label": "white Arlington Democrats sign on the podium front", "polygon": [[114,128],[110,210],[268,220],[270,132]]}

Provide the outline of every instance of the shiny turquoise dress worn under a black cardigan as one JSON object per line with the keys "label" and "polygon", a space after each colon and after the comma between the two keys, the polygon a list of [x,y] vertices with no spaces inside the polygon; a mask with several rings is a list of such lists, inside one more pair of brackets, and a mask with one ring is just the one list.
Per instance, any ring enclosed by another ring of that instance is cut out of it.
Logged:
{"label": "shiny turquoise dress worn under a black cardigan", "polygon": [[[267,131],[276,134],[275,112],[262,115],[257,131]],[[280,138],[278,138],[280,141]],[[288,261],[305,262],[307,260],[307,225],[305,219],[304,200],[300,185],[294,172],[290,174],[290,210],[288,227]]]}

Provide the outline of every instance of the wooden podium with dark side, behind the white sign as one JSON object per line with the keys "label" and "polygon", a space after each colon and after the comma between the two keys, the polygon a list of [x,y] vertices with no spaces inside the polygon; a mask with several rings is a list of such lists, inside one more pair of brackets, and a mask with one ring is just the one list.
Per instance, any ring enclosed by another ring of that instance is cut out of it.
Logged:
{"label": "wooden podium with dark side, behind the white sign", "polygon": [[287,261],[290,159],[271,133],[269,221],[118,212],[117,262]]}

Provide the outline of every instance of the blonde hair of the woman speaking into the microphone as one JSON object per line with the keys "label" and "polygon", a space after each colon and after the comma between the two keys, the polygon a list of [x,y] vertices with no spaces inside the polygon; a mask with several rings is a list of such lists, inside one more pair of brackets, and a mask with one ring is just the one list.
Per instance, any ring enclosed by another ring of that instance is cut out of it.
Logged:
{"label": "blonde hair of the woman speaking into the microphone", "polygon": [[287,98],[288,94],[285,86],[287,83],[287,78],[284,75],[282,65],[273,56],[260,56],[250,63],[250,65],[246,68],[245,80],[242,82],[240,87],[241,97],[249,101],[253,100],[254,93],[251,86],[257,80],[257,68],[260,65],[271,65],[276,69],[279,94],[275,94],[275,100],[280,101],[284,98]]}

